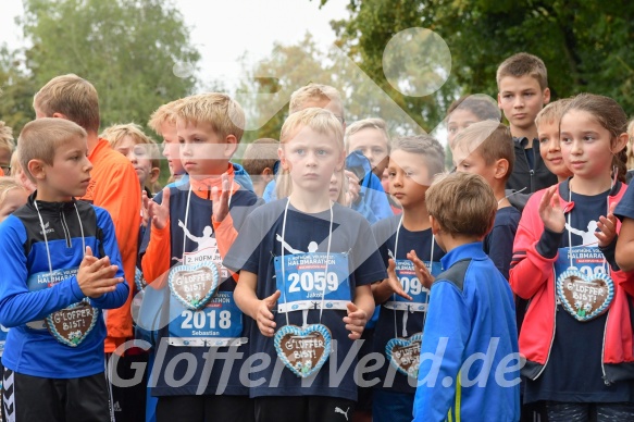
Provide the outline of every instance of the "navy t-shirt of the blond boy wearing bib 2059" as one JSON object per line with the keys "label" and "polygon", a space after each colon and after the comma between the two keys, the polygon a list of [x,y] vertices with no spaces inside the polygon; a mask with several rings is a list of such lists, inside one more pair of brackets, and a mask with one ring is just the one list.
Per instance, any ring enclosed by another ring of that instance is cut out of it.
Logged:
{"label": "navy t-shirt of the blond boy wearing bib 2059", "polygon": [[[331,212],[307,214],[293,206],[288,207],[286,227],[284,229],[284,210],[287,199],[266,203],[249,215],[241,227],[227,257],[223,261],[229,269],[241,269],[257,274],[257,296],[264,299],[277,289],[275,258],[281,257],[283,241],[285,257],[293,251],[326,253]],[[381,281],[387,276],[385,266],[376,250],[369,223],[361,214],[338,203],[333,206],[333,228],[331,253],[344,253],[348,258],[349,297],[353,299],[355,288]],[[283,241],[282,241],[283,240]],[[309,253],[310,255],[310,253]],[[339,289],[341,287],[339,286]],[[278,305],[283,302],[284,293]],[[320,298],[315,297],[314,302]],[[357,365],[357,347],[348,338],[343,318],[345,310],[324,309],[320,320],[319,309],[307,310],[307,324],[322,323],[328,327],[333,343],[333,353],[321,370],[309,378],[302,378],[285,368],[277,358],[274,338],[260,333],[257,323],[251,324],[249,336],[250,353],[263,352],[253,365],[262,369],[249,375],[254,383],[251,397],[261,396],[328,396],[357,399],[357,385],[353,372]],[[301,326],[304,311],[274,312],[276,330],[286,325],[288,315],[291,325]],[[353,358],[348,357],[351,353]],[[348,359],[346,359],[348,357]],[[332,376],[333,375],[333,376]]]}

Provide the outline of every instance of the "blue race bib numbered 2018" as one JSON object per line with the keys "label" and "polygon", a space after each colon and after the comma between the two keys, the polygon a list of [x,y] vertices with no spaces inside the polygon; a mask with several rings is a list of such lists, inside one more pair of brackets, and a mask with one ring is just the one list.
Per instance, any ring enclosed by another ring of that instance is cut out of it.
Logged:
{"label": "blue race bib numbered 2018", "polygon": [[173,306],[169,343],[173,346],[224,347],[247,343],[241,338],[243,312],[233,291],[217,291],[199,310]]}

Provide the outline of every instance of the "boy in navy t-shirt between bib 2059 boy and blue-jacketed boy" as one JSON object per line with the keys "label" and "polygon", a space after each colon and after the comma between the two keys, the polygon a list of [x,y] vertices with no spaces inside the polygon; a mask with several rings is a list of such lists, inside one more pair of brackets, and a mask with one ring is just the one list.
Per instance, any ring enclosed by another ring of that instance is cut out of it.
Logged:
{"label": "boy in navy t-shirt between bib 2059 boy and blue-jacketed boy", "polygon": [[[444,167],[443,147],[431,136],[393,141],[387,166],[389,189],[402,204],[402,215],[372,226],[385,266],[389,262],[389,272],[396,271],[394,277],[372,285],[374,301],[383,305],[374,330],[373,349],[387,358],[387,363],[376,374],[382,381],[374,389],[372,402],[372,417],[376,422],[412,419],[428,290],[417,278],[407,256],[414,250],[426,261],[432,274],[440,273],[440,258],[445,253],[432,235],[425,191],[434,175],[442,173]],[[386,349],[387,346],[394,350],[399,338],[409,338],[414,344],[418,350],[413,361],[403,363],[394,351]]]}

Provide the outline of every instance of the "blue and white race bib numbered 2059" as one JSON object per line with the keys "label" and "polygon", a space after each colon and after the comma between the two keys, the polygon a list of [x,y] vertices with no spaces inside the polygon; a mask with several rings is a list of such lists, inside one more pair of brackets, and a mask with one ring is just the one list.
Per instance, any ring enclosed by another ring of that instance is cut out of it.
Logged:
{"label": "blue and white race bib numbered 2059", "polygon": [[[327,275],[326,271],[326,257]],[[303,309],[347,309],[351,301],[348,257],[344,253],[295,253],[275,258],[276,286],[282,291],[278,312]]]}

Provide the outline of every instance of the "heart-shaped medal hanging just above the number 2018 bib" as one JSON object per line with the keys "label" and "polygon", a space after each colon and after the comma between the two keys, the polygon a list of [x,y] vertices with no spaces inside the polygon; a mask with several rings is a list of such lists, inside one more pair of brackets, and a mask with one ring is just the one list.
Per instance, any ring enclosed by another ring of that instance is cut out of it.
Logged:
{"label": "heart-shaped medal hanging just above the number 2018 bib", "polygon": [[217,266],[208,261],[175,265],[167,277],[170,291],[187,309],[202,309],[215,295],[220,283]]}

